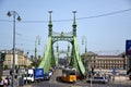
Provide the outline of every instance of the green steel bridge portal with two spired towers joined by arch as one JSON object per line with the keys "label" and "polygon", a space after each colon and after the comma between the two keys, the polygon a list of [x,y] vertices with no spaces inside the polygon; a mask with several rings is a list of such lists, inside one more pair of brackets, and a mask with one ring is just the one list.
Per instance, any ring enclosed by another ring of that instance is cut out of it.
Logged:
{"label": "green steel bridge portal with two spired towers joined by arch", "polygon": [[38,65],[38,67],[44,67],[44,71],[47,72],[50,67],[58,64],[59,59],[59,51],[57,46],[57,58],[53,54],[53,44],[58,41],[68,41],[72,45],[71,52],[69,51],[68,46],[68,57],[69,59],[69,65],[75,67],[82,76],[85,75],[85,67],[83,65],[83,62],[81,60],[81,55],[79,52],[79,46],[76,41],[76,22],[75,22],[75,13],[76,11],[73,11],[73,24],[72,24],[72,32],[70,33],[55,33],[52,32],[52,21],[51,21],[51,13],[52,11],[49,11],[49,24],[48,24],[48,40],[46,45],[46,50],[44,54],[44,59]]}

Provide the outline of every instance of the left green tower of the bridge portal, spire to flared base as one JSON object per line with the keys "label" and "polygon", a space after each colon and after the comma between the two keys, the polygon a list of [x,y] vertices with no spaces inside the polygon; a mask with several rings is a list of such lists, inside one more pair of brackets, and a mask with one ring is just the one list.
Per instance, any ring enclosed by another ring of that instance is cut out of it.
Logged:
{"label": "left green tower of the bridge portal, spire to flared base", "polygon": [[55,61],[55,55],[53,55],[53,48],[52,48],[52,22],[51,22],[51,13],[52,11],[49,11],[49,35],[48,35],[48,40],[47,40],[47,46],[46,46],[46,50],[44,53],[44,59],[40,62],[38,67],[44,67],[45,72],[48,72],[50,67],[52,67],[56,64]]}

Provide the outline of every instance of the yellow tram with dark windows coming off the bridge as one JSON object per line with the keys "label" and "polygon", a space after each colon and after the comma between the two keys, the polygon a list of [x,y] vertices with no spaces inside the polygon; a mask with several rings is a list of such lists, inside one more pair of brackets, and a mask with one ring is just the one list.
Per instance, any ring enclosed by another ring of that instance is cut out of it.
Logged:
{"label": "yellow tram with dark windows coming off the bridge", "polygon": [[67,83],[75,83],[76,82],[76,70],[73,67],[64,67],[62,69],[62,82]]}

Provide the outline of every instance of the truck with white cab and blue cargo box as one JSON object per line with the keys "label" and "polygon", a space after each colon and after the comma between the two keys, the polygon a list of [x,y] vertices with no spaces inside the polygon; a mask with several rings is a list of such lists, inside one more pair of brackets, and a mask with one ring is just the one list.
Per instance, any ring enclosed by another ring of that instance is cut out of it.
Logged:
{"label": "truck with white cab and blue cargo box", "polygon": [[34,83],[44,79],[44,69],[28,69],[24,74],[24,83]]}

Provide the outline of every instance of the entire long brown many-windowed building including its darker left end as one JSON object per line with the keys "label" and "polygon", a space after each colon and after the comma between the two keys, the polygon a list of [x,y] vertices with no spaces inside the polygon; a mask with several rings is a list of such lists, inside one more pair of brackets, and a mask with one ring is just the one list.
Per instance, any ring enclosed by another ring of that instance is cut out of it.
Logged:
{"label": "entire long brown many-windowed building including its darker left end", "polygon": [[119,55],[98,55],[94,52],[88,52],[87,54],[82,54],[82,60],[87,69],[111,70],[116,67],[118,70],[127,70],[127,57],[124,57],[124,53]]}

